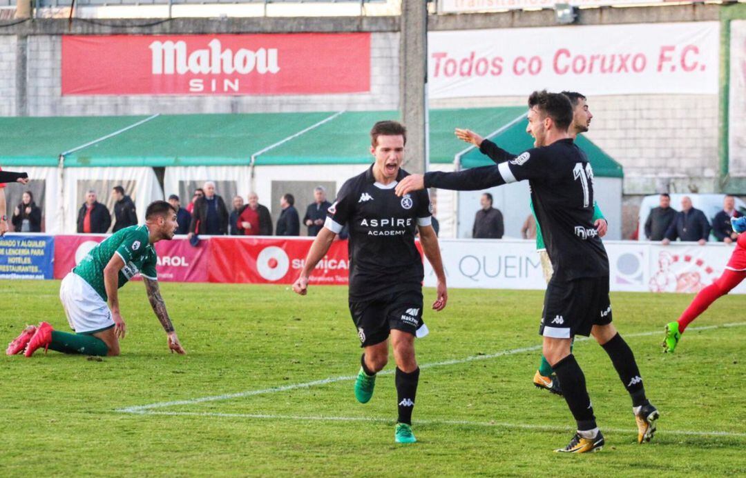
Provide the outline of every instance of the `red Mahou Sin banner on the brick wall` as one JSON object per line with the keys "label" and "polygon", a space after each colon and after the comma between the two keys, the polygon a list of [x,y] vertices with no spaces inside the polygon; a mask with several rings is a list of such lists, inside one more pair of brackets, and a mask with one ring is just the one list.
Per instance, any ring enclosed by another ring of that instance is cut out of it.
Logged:
{"label": "red Mahou Sin banner on the brick wall", "polygon": [[63,95],[369,92],[370,34],[63,36]]}

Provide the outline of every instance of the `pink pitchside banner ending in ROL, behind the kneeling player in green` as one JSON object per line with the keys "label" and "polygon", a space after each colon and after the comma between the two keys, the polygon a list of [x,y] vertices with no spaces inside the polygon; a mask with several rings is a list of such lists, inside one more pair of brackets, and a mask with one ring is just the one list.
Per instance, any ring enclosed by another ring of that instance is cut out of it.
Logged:
{"label": "pink pitchside banner ending in ROL, behind the kneeling player in green", "polygon": [[[93,234],[56,236],[54,278],[65,277],[91,249],[107,237]],[[210,240],[201,240],[197,247],[192,247],[189,240],[181,238],[157,242],[155,250],[158,254],[158,280],[207,282],[209,249]]]}

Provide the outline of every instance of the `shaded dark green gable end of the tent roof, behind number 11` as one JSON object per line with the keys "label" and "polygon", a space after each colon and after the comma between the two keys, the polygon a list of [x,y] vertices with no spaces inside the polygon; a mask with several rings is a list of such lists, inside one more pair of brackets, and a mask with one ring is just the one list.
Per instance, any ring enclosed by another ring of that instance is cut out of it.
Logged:
{"label": "shaded dark green gable end of the tent roof, behind number 11", "polygon": [[[525,109],[523,111],[525,112]],[[513,124],[506,123],[506,127],[499,130],[498,133],[489,139],[495,141],[504,150],[515,154],[521,153],[533,147],[533,137],[526,133],[527,126],[527,118],[522,118],[521,121],[515,121]],[[595,176],[624,177],[621,165],[612,159],[611,156],[604,153],[604,150],[596,146],[591,140],[580,135],[575,142],[588,156]],[[461,168],[478,168],[493,164],[495,163],[480,153],[477,148],[469,150],[460,157]]]}

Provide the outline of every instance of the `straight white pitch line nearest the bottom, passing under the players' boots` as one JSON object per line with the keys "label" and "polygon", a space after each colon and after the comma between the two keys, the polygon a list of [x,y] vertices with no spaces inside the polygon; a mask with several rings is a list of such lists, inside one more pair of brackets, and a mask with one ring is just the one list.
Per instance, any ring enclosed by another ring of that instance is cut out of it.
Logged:
{"label": "straight white pitch line nearest the bottom, passing under the players' boots", "polygon": [[[196,417],[220,417],[220,418],[252,418],[262,420],[289,420],[289,421],[367,421],[380,423],[394,423],[392,418],[376,417],[339,417],[325,415],[271,415],[266,413],[220,413],[220,412],[136,412],[137,415],[168,415],[168,416],[196,416]],[[574,431],[571,427],[559,427],[552,425],[517,424],[504,421],[468,421],[468,420],[417,420],[419,425],[457,425],[468,427],[499,427],[499,428],[521,428],[523,430],[542,430],[551,432]],[[637,433],[637,430],[626,428],[606,428],[604,432],[611,433]],[[746,438],[746,433],[739,432],[698,432],[695,430],[656,430],[656,433],[664,435],[687,435],[687,436],[725,436]]]}

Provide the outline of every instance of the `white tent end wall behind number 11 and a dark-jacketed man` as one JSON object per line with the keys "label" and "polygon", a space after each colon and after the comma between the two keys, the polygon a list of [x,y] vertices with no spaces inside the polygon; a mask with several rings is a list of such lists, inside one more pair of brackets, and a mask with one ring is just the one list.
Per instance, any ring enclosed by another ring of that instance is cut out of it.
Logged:
{"label": "white tent end wall behind number 11 and a dark-jacketed man", "polygon": [[[531,200],[528,181],[512,182],[481,191],[460,191],[458,193],[457,238],[471,238],[474,215],[480,209],[479,200],[483,193],[492,194],[492,207],[503,213],[505,238],[520,239],[521,226],[531,214]],[[601,212],[609,222],[609,232],[604,239],[621,239],[621,178],[596,177],[593,192]]]}

